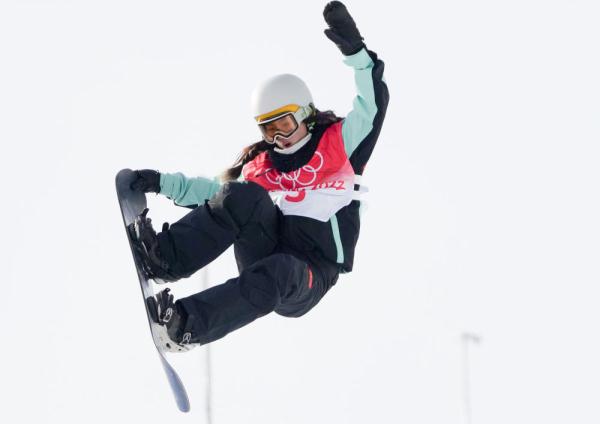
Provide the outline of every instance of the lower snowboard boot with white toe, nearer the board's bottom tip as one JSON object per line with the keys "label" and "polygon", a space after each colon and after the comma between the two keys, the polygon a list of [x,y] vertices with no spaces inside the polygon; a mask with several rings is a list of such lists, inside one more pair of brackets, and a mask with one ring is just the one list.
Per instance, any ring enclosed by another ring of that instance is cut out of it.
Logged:
{"label": "lower snowboard boot with white toe, nearer the board's bottom tip", "polygon": [[169,289],[164,289],[154,297],[146,299],[146,305],[155,324],[153,333],[159,347],[164,352],[187,352],[196,344],[190,344],[192,333],[184,332],[185,319],[175,305]]}

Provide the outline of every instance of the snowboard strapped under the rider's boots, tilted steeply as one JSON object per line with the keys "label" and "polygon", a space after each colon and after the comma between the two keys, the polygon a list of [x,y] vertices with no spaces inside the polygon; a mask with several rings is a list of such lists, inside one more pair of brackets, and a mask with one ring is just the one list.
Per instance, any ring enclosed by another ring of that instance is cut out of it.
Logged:
{"label": "snowboard strapped under the rider's boots, tilted steeply", "polygon": [[188,412],[190,410],[190,401],[188,399],[187,392],[181,379],[177,375],[177,372],[175,372],[175,369],[167,360],[167,352],[163,351],[160,347],[161,343],[159,342],[160,339],[157,331],[158,324],[152,320],[150,311],[148,310],[146,299],[154,297],[156,292],[158,292],[158,290],[155,292],[156,284],[154,281],[146,277],[146,273],[143,270],[142,264],[135,254],[135,246],[133,245],[131,235],[127,230],[127,226],[131,224],[135,220],[136,216],[141,214],[146,208],[146,195],[140,191],[132,190],[129,187],[135,177],[135,172],[133,172],[131,169],[122,169],[119,171],[116,177],[117,197],[119,199],[119,206],[121,207],[121,215],[123,216],[125,233],[127,234],[127,240],[129,240],[129,247],[131,248],[131,254],[133,255],[133,261],[135,263],[138,280],[142,289],[142,300],[144,301],[144,308],[146,309],[146,315],[148,318],[148,324],[150,325],[150,332],[152,334],[154,346],[156,347],[163,369],[167,375],[167,380],[169,381],[169,385],[171,386],[171,390],[175,396],[177,407],[181,412]]}

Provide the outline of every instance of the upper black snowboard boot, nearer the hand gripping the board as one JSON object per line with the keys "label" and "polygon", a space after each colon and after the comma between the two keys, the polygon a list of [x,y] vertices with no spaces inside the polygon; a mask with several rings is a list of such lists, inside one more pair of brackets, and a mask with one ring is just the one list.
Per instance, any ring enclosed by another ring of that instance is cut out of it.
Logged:
{"label": "upper black snowboard boot, nearer the hand gripping the board", "polygon": [[[152,278],[156,283],[163,284],[177,281],[178,278],[169,272],[169,264],[162,258],[158,247],[158,237],[152,228],[152,220],[146,215],[148,208],[127,226],[127,230],[134,241],[136,254],[142,263],[142,268],[147,278]],[[168,224],[165,223],[168,228]]]}

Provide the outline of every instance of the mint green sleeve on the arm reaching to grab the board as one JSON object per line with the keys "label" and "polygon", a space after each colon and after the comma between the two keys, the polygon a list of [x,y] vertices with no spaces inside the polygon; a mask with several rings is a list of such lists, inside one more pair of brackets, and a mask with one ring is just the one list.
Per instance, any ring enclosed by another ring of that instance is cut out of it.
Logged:
{"label": "mint green sleeve on the arm reaching to grab the board", "polygon": [[200,205],[210,199],[221,188],[217,178],[188,178],[181,172],[160,174],[160,194],[179,206]]}

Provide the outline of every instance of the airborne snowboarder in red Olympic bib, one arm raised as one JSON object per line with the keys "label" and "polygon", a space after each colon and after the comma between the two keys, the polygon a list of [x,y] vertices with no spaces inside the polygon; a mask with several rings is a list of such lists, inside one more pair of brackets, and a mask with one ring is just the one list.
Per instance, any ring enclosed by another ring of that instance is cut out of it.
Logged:
{"label": "airborne snowboarder in red Olympic bib, one arm raised", "polygon": [[359,176],[379,136],[389,93],[383,62],[367,50],[346,7],[325,6],[325,35],[355,72],[345,118],[318,110],[306,84],[274,76],[252,95],[262,139],[220,179],[138,170],[131,187],[193,208],[156,233],[146,209],[129,230],[148,276],[186,278],[233,244],[239,276],[175,301],[149,298],[153,319],[182,351],[215,341],[270,312],[299,317],[353,267]]}

